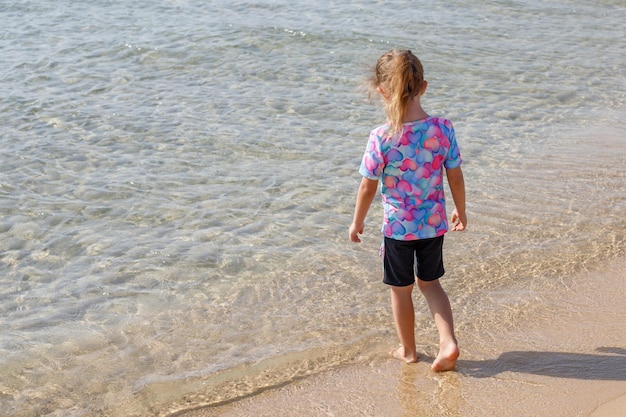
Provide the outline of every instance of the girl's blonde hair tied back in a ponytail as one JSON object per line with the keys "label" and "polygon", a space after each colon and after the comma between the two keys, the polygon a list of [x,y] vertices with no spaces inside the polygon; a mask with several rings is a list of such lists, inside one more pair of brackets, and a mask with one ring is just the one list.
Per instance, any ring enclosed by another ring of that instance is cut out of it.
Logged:
{"label": "girl's blonde hair tied back in a ponytail", "polygon": [[424,67],[407,49],[394,49],[383,54],[369,79],[373,90],[384,91],[385,112],[394,132],[402,129],[409,103],[420,94],[424,85]]}

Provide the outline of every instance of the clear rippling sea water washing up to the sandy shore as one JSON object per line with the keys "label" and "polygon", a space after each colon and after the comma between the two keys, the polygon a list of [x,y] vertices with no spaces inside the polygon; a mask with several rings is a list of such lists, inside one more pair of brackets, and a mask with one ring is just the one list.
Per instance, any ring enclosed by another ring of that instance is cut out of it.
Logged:
{"label": "clear rippling sea water washing up to the sandy shore", "polygon": [[624,254],[621,0],[9,0],[0,20],[3,416],[168,415],[396,344],[379,205],[347,236],[384,121],[363,81],[391,48],[423,61],[465,161],[460,337]]}

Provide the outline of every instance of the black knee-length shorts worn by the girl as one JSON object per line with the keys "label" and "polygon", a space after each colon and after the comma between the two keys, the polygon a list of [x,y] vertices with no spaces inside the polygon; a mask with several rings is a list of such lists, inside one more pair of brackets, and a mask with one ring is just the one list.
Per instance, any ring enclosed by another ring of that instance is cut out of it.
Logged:
{"label": "black knee-length shorts worn by the girl", "polygon": [[444,274],[443,236],[432,239],[395,240],[383,243],[383,282],[396,287],[434,281]]}

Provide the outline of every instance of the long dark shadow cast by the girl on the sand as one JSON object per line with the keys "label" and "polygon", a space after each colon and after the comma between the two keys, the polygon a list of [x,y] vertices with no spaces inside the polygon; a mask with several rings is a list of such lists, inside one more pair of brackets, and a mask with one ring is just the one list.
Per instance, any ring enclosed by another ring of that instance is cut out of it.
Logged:
{"label": "long dark shadow cast by the girl on the sand", "polygon": [[459,360],[457,372],[488,378],[518,372],[597,381],[626,381],[626,349],[602,347],[598,354],[564,352],[506,352],[495,360]]}

